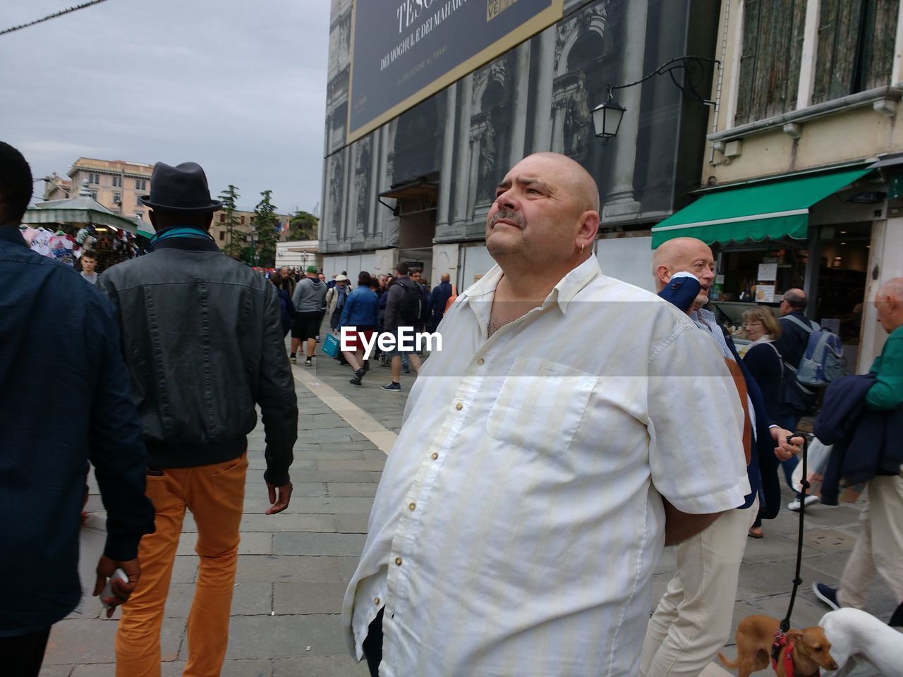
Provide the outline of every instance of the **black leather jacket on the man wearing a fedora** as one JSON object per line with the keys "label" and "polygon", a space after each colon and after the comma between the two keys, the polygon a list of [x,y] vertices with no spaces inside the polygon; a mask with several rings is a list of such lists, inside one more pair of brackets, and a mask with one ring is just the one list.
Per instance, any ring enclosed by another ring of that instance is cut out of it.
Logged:
{"label": "black leather jacket on the man wearing a fedora", "polygon": [[161,242],[98,282],[116,306],[148,465],[192,468],[241,456],[257,403],[265,479],[282,486],[298,404],[275,287],[212,242],[197,242]]}

